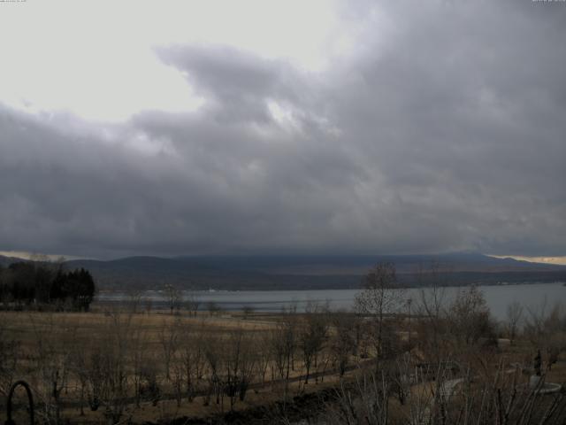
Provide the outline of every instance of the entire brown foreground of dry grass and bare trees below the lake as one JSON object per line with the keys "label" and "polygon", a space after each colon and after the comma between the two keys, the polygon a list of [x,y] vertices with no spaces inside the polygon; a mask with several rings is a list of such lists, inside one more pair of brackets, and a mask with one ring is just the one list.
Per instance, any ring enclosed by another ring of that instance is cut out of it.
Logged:
{"label": "entire brown foreground of dry grass and bare trees below the lake", "polygon": [[[279,421],[287,414],[281,408],[316,393],[302,406],[305,416],[336,424],[367,417],[371,425],[421,423],[423,414],[459,421],[458,409],[481,418],[497,413],[503,401],[516,406],[507,423],[531,423],[518,409],[520,400],[536,399],[529,414],[536,423],[554,423],[542,421],[535,407],[555,398],[533,396],[528,383],[537,351],[546,381],[566,383],[561,314],[525,321],[511,344],[501,339],[509,337],[505,323],[486,327],[485,311],[454,308],[442,317],[421,313],[380,321],[324,309],[0,312],[0,401],[5,406],[10,384],[24,379],[34,392],[39,423],[206,422],[260,408]],[[517,390],[523,398],[511,399]],[[332,402],[320,401],[322,394],[331,394]],[[566,398],[558,395],[557,406],[566,413]],[[26,421],[22,396],[16,397],[17,423]],[[480,399],[487,401],[478,405]]]}

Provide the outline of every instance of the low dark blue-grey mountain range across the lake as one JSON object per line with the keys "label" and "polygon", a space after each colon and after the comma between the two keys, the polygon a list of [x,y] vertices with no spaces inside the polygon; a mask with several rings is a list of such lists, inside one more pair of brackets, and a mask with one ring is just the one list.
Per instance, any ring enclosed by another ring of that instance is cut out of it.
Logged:
{"label": "low dark blue-grey mountain range across the lake", "polygon": [[[0,264],[14,261],[0,256]],[[398,280],[411,286],[440,282],[566,282],[566,266],[496,259],[478,253],[441,255],[273,255],[128,257],[108,261],[73,259],[65,267],[88,269],[103,290],[161,289],[165,284],[195,290],[297,290],[359,288],[363,275],[391,262]]]}

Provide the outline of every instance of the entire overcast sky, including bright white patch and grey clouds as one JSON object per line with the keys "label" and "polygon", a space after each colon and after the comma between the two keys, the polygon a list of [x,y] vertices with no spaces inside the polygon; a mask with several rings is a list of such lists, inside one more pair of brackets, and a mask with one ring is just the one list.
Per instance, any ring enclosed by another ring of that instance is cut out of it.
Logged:
{"label": "entire overcast sky, including bright white patch and grey clouds", "polygon": [[0,250],[566,255],[566,3],[3,2],[0,53]]}

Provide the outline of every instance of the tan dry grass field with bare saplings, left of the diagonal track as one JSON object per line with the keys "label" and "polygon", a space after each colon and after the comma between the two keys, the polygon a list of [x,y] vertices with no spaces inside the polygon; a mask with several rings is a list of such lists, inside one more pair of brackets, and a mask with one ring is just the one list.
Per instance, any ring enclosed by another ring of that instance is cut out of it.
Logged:
{"label": "tan dry grass field with bare saplings, left of the diagonal track", "polygon": [[[4,383],[31,383],[36,404],[43,406],[36,410],[45,421],[55,416],[102,423],[115,409],[141,423],[269,405],[323,390],[339,379],[333,351],[320,345],[310,366],[315,376],[305,384],[298,342],[303,322],[299,314],[2,312],[4,341],[15,343],[13,369],[4,374]],[[335,334],[330,327],[323,332],[326,339]],[[278,344],[286,333],[296,339],[292,352]],[[123,382],[98,383],[101,373],[118,375]],[[249,387],[245,397],[236,388],[242,382]],[[226,390],[226,383],[234,390]],[[218,385],[224,388],[214,388]],[[100,406],[93,411],[96,398]],[[126,401],[112,406],[112,398]]]}

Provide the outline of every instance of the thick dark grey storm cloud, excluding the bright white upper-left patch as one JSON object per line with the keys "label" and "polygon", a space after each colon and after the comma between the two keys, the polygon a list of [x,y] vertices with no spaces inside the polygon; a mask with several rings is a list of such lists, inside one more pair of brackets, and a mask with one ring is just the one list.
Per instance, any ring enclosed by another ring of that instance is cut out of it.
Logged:
{"label": "thick dark grey storm cloud, excluding the bright white upper-left patch", "polygon": [[317,71],[158,45],[195,111],[95,122],[0,93],[0,248],[566,255],[564,4],[371,4],[340,6],[354,42]]}

